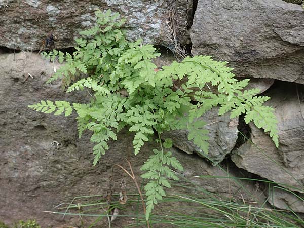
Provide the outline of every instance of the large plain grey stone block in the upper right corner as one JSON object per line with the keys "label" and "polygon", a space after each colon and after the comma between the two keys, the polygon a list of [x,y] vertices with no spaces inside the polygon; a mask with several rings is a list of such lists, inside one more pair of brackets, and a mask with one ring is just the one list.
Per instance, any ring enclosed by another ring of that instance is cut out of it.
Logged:
{"label": "large plain grey stone block in the upper right corner", "polygon": [[229,61],[240,77],[304,84],[304,10],[282,0],[199,0],[193,54]]}

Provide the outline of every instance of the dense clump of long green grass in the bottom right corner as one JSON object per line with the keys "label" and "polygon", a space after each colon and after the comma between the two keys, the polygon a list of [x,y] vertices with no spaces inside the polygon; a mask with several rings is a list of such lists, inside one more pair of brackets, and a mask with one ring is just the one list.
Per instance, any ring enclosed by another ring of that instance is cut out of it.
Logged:
{"label": "dense clump of long green grass in the bottom right corner", "polygon": [[[184,186],[185,189],[189,186]],[[291,211],[277,210],[267,205],[266,199],[262,205],[255,202],[232,201],[218,194],[209,193],[206,197],[204,189],[195,186],[198,194],[173,194],[164,199],[168,205],[176,203],[180,206],[168,208],[165,214],[153,215],[151,225],[172,225],[171,227],[304,227],[304,220]],[[165,209],[164,209],[165,211]],[[132,227],[142,227],[143,219],[139,219]]]}

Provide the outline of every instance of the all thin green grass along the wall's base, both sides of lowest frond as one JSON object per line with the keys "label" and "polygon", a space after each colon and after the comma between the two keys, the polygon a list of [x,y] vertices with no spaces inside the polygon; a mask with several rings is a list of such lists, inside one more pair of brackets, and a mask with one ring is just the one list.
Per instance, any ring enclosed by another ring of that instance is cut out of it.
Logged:
{"label": "all thin green grass along the wall's base, both sides of lowest frond", "polygon": [[[198,176],[197,178],[227,178],[218,176]],[[230,178],[230,177],[228,177]],[[238,181],[238,178],[230,178]],[[274,184],[271,181],[240,178],[247,181],[260,181],[265,184]],[[161,212],[150,217],[151,227],[281,227],[294,228],[304,227],[304,220],[292,211],[273,209],[266,199],[260,206],[254,201],[234,200],[211,193],[200,187],[195,182],[183,179],[184,184],[176,182],[175,187],[183,188],[183,192],[195,194],[172,193],[165,197],[161,204]],[[114,195],[113,195],[114,196]],[[74,198],[71,204],[60,205],[58,211],[53,213],[72,216],[96,217],[88,227],[98,224],[103,218],[111,217],[110,210],[118,207],[123,211],[118,218],[132,218],[133,224],[128,227],[145,227],[146,220],[141,214],[138,194],[129,195],[127,205],[135,206],[136,210],[127,211],[119,202],[112,202],[108,211],[102,195],[81,196]],[[78,203],[77,203],[78,202]],[[137,206],[136,206],[137,205]],[[174,206],[172,206],[174,205]],[[81,211],[80,211],[81,208]],[[134,213],[135,212],[135,213]],[[110,227],[110,226],[109,226]]]}

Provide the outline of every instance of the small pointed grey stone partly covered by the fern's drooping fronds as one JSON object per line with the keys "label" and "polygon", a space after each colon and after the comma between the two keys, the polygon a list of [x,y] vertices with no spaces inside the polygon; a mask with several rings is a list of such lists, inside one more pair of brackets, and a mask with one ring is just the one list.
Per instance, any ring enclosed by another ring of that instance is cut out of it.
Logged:
{"label": "small pointed grey stone partly covered by the fern's drooping fronds", "polygon": [[209,130],[209,152],[206,155],[198,146],[187,139],[187,130],[173,130],[163,134],[163,138],[171,138],[174,146],[187,154],[196,153],[206,157],[214,165],[220,163],[234,148],[238,138],[239,118],[230,119],[229,113],[218,116],[218,108],[208,111],[202,118]]}

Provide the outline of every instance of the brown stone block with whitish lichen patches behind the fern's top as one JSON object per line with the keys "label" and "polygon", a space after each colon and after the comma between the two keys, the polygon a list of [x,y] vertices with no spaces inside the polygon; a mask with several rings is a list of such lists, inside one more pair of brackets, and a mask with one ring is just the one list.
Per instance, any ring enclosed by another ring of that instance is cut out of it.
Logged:
{"label": "brown stone block with whitish lichen patches behind the fern's top", "polygon": [[0,46],[17,50],[40,50],[52,33],[56,48],[74,46],[80,30],[94,24],[95,9],[119,12],[126,17],[130,40],[174,48],[170,17],[177,42],[189,43],[187,26],[192,17],[192,1],[103,0],[103,1],[0,1]]}

